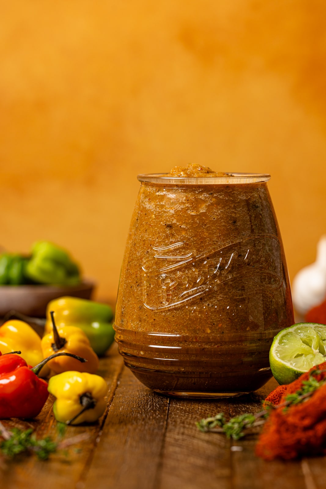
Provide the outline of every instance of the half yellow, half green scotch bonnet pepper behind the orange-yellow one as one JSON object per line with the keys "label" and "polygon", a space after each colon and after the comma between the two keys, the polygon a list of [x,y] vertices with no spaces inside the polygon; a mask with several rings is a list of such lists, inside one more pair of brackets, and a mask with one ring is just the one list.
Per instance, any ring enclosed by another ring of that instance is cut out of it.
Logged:
{"label": "half yellow, half green scotch bonnet pepper behind the orange-yellow one", "polygon": [[82,329],[98,356],[104,355],[114,340],[113,312],[105,304],[69,296],[55,299],[47,305],[46,333],[52,331],[50,311],[55,312],[58,328],[77,326]]}

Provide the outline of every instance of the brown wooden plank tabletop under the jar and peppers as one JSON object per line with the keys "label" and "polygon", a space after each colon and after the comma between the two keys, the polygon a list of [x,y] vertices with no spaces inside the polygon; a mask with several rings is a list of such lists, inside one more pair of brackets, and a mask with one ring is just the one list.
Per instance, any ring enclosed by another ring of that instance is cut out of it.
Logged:
{"label": "brown wooden plank tabletop under the jar and peppers", "polygon": [[[254,455],[257,435],[242,441],[201,433],[195,422],[224,411],[230,416],[259,411],[277,385],[270,380],[254,394],[225,400],[177,400],[155,394],[123,365],[116,345],[100,362],[108,382],[108,409],[91,426],[67,427],[64,439],[89,438],[68,455],[46,462],[22,457],[1,463],[6,489],[324,489],[325,458],[265,462]],[[35,426],[39,436],[59,437],[49,399],[34,422],[5,421],[6,427]]]}

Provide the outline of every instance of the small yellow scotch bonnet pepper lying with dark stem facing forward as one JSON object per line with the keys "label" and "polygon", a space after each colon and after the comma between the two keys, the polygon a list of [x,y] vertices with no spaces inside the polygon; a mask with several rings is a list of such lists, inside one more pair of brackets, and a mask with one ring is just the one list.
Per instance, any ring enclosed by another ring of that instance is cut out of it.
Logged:
{"label": "small yellow scotch bonnet pepper lying with dark stem facing forward", "polygon": [[55,419],[66,424],[96,421],[105,411],[108,386],[104,378],[80,372],[64,372],[51,377],[48,391],[57,399]]}

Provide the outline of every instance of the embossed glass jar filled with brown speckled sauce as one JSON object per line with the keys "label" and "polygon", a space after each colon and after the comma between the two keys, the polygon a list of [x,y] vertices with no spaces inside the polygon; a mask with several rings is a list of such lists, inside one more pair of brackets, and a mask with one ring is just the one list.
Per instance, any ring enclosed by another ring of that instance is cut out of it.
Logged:
{"label": "embossed glass jar filled with brown speckled sauce", "polygon": [[270,377],[293,324],[269,175],[138,175],[117,298],[116,341],[152,390],[230,397]]}

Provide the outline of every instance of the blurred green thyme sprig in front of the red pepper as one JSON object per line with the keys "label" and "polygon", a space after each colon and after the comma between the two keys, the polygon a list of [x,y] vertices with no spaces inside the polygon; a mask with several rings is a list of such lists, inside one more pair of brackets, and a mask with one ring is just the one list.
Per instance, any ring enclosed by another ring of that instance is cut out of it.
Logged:
{"label": "blurred green thyme sprig in front of the red pepper", "polygon": [[40,460],[47,460],[51,453],[64,450],[69,445],[77,444],[88,438],[87,433],[74,436],[70,439],[56,443],[51,437],[37,439],[33,428],[21,430],[13,428],[7,430],[0,422],[0,435],[3,440],[0,442],[0,452],[8,458],[14,458],[16,455],[35,454]]}

